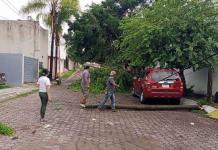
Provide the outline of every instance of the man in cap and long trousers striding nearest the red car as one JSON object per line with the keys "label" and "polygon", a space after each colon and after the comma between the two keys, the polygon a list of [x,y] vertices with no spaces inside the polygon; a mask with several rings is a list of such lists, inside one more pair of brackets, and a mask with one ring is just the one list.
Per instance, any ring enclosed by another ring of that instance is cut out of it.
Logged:
{"label": "man in cap and long trousers striding nearest the red car", "polygon": [[116,75],[115,71],[111,71],[110,76],[106,82],[106,91],[105,91],[105,97],[104,100],[99,104],[98,109],[101,110],[105,103],[108,101],[108,99],[111,99],[111,108],[112,111],[115,111],[115,96],[114,96],[114,90],[115,87],[119,87],[118,84],[114,81],[114,76]]}

